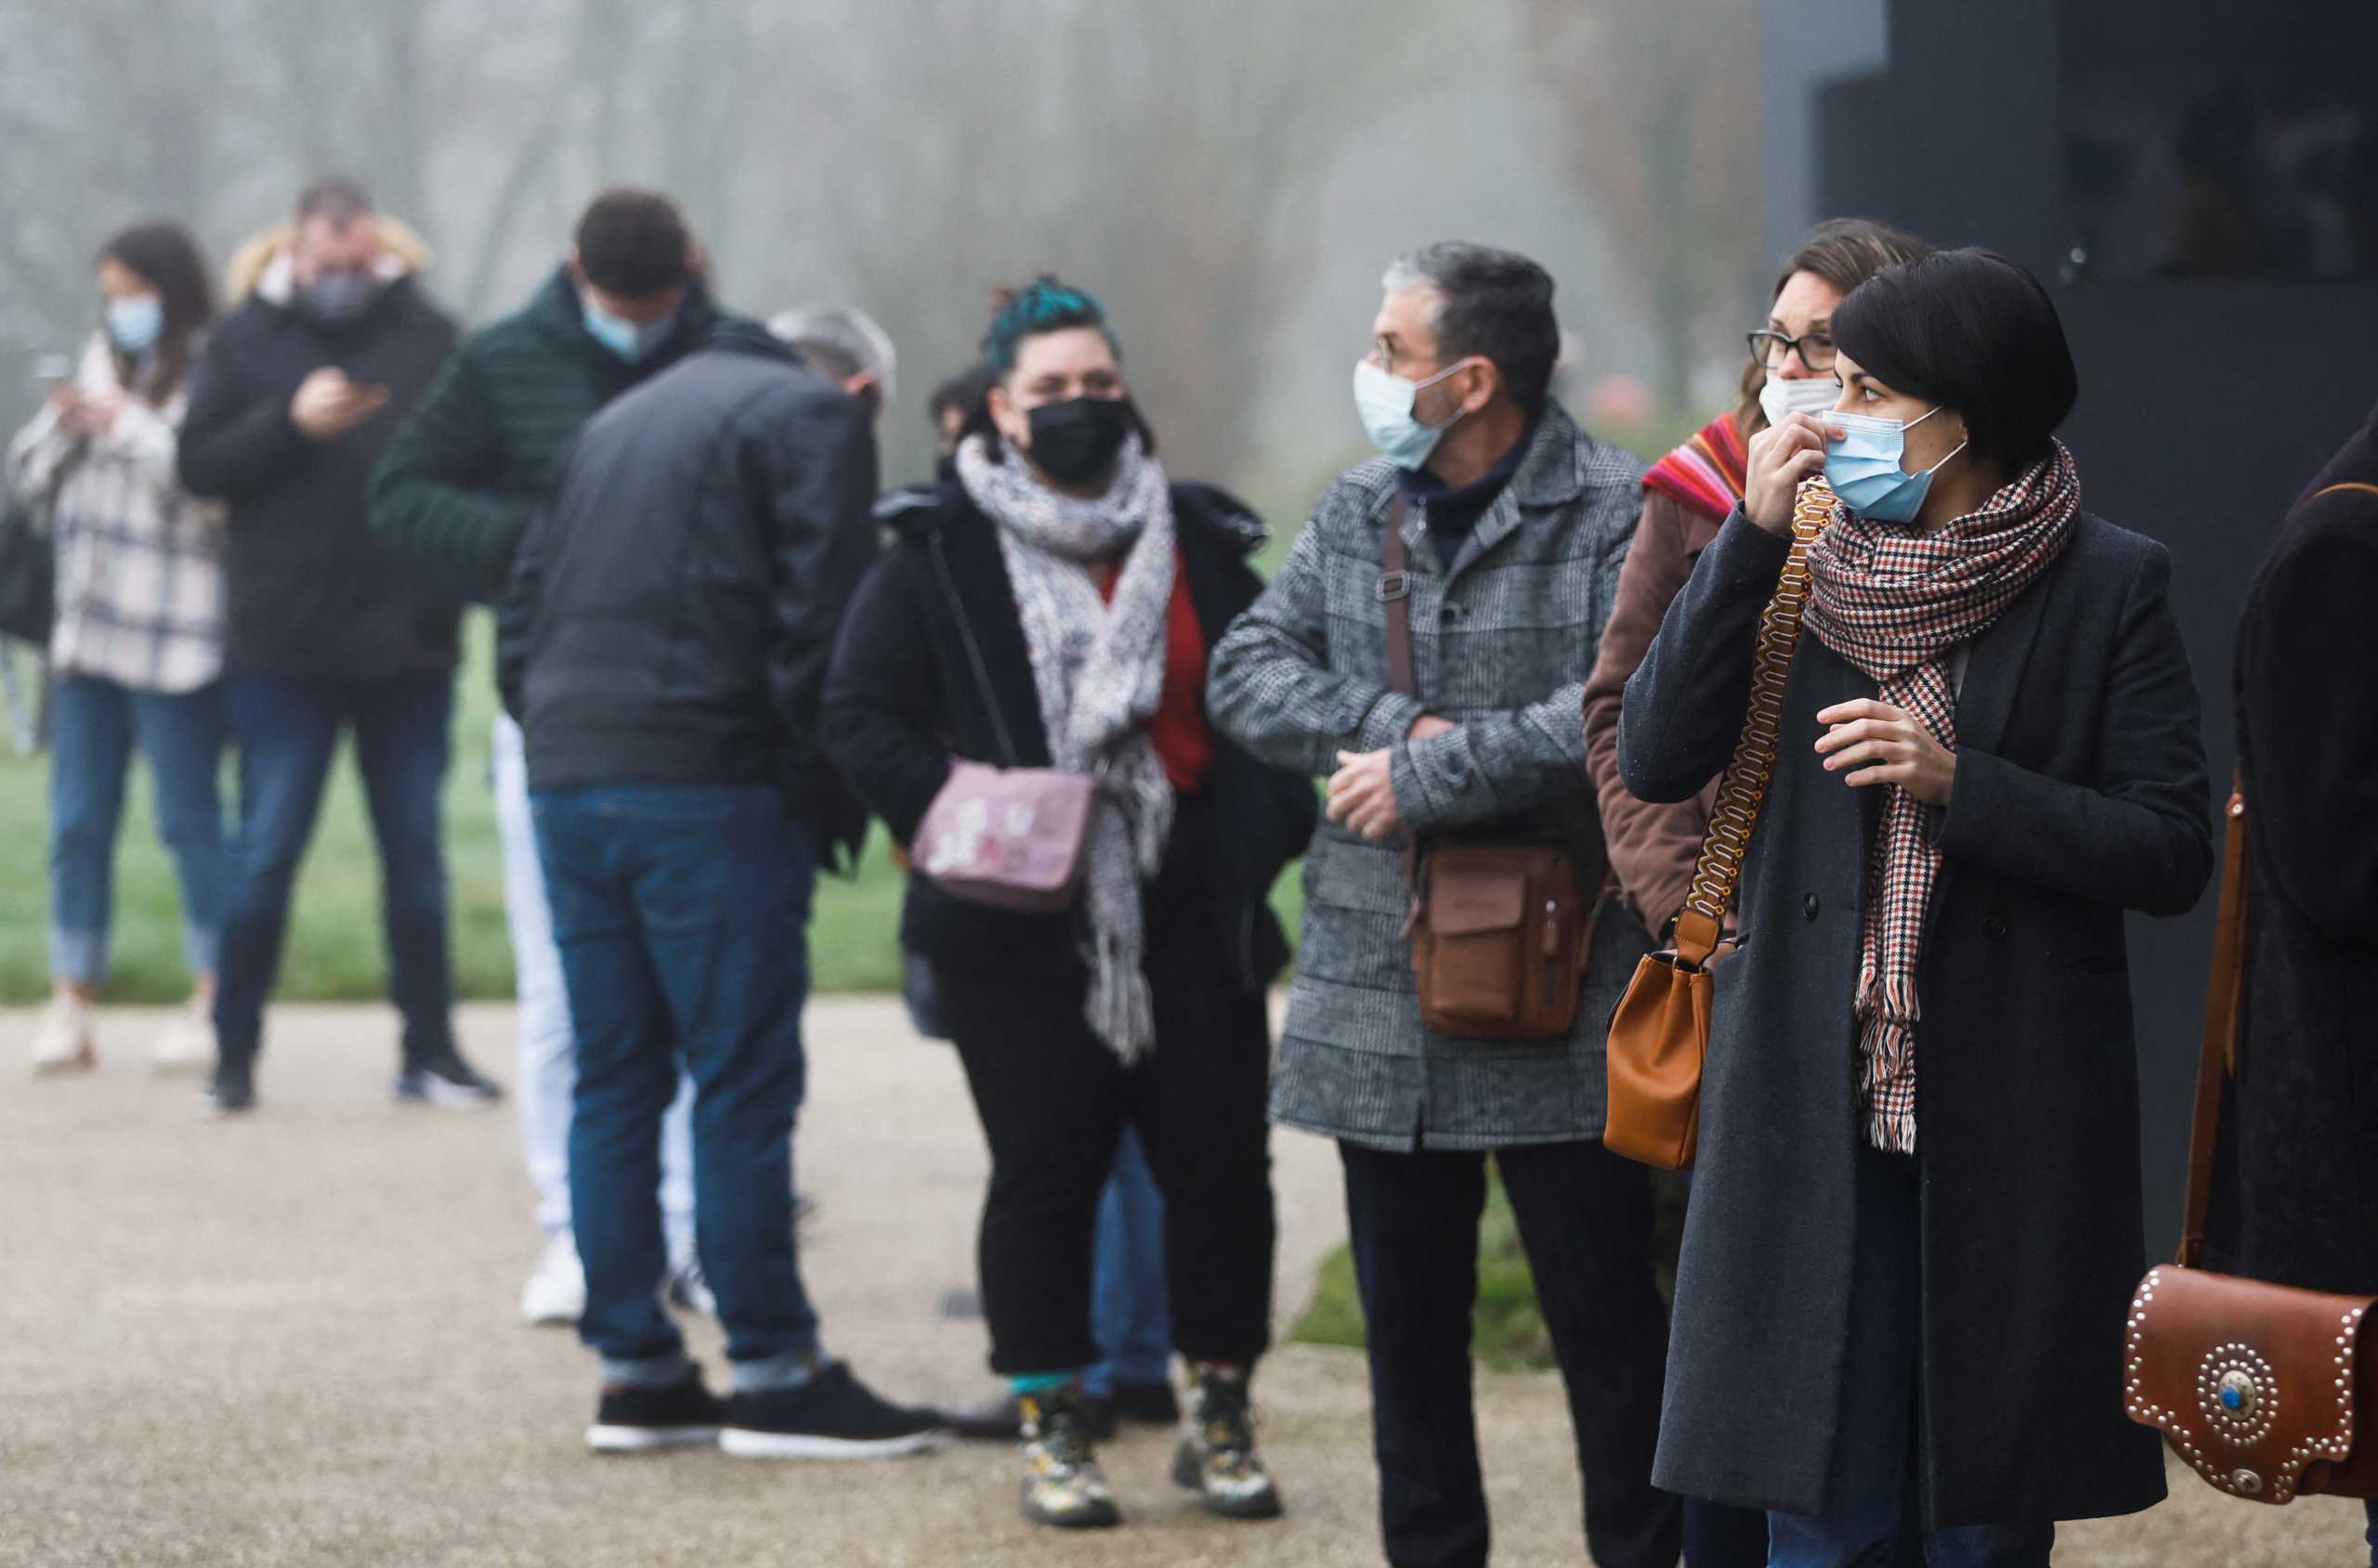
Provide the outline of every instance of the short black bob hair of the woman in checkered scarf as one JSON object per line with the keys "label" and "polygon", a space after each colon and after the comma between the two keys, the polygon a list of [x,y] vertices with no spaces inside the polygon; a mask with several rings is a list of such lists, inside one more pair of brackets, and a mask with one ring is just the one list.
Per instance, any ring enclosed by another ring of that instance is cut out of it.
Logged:
{"label": "short black bob hair of the woman in checkered scarf", "polygon": [[1860,283],[1833,342],[1893,392],[1955,409],[1974,456],[2014,475],[2081,397],[2057,304],[1993,249],[1940,249]]}

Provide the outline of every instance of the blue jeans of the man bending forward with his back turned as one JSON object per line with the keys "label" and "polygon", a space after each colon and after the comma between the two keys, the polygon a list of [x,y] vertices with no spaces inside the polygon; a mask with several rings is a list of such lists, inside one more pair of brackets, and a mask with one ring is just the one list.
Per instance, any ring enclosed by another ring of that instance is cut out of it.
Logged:
{"label": "blue jeans of the man bending forward with his back turned", "polygon": [[614,1383],[652,1383],[685,1359],[656,1297],[661,1119],[682,1055],[694,1238],[735,1385],[799,1383],[818,1354],[792,1240],[818,839],[763,786],[540,789],[530,810],[578,1031],[578,1338]]}

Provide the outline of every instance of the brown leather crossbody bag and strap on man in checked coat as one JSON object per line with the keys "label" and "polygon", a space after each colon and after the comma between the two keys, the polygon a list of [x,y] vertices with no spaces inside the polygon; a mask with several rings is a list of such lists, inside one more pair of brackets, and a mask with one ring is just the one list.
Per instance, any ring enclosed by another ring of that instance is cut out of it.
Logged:
{"label": "brown leather crossbody bag and strap on man in checked coat", "polygon": [[[1389,684],[1417,698],[1408,513],[1398,492],[1379,546],[1379,603]],[[1593,943],[1593,910],[1577,893],[1567,846],[1446,836],[1408,846],[1403,874],[1420,1022],[1474,1041],[1567,1038]]]}

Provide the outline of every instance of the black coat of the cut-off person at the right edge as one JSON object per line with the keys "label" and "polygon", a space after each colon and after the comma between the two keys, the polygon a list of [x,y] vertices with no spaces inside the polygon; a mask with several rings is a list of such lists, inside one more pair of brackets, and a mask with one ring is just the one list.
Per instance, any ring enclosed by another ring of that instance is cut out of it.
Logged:
{"label": "black coat of the cut-off person at the right edge", "polygon": [[2378,416],[2271,542],[2238,625],[2254,846],[2207,1264],[2378,1295]]}

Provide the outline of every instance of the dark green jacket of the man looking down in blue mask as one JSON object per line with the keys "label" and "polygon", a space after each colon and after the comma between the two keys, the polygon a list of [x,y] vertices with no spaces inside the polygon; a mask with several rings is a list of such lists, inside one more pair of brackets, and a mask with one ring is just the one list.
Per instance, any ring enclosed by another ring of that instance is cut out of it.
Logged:
{"label": "dark green jacket of the man looking down in blue mask", "polygon": [[678,328],[630,366],[587,335],[578,285],[556,268],[526,309],[454,352],[388,444],[366,489],[373,537],[454,592],[492,601],[578,430],[721,321],[694,283]]}

